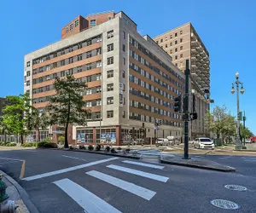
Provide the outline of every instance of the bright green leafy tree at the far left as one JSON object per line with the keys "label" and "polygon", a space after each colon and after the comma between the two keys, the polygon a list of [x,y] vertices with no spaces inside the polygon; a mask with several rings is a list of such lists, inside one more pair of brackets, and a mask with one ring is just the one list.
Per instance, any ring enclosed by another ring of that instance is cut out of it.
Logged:
{"label": "bright green leafy tree at the far left", "polygon": [[3,124],[15,135],[23,136],[29,133],[32,127],[30,98],[28,94],[7,96],[7,106],[4,107]]}

